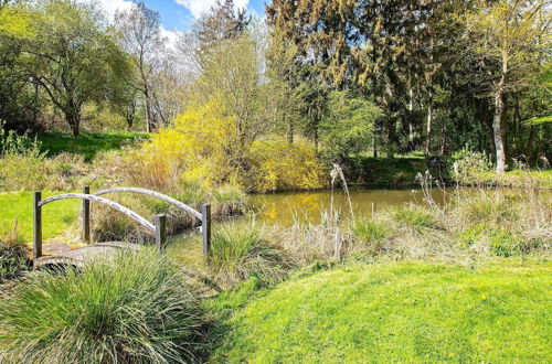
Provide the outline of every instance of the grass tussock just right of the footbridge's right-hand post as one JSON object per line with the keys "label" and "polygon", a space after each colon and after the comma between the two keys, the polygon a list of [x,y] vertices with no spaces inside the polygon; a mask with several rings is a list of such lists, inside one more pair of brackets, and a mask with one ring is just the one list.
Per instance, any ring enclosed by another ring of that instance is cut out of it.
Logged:
{"label": "grass tussock just right of the footbridge's right-hand post", "polygon": [[251,276],[280,280],[290,263],[254,223],[233,222],[214,229],[209,267],[219,283],[230,286]]}

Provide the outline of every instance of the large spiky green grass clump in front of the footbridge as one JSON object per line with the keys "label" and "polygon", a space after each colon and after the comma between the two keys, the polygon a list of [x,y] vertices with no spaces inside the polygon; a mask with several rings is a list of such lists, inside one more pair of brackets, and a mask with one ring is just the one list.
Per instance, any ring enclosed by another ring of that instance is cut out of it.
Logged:
{"label": "large spiky green grass clump in front of the footbridge", "polygon": [[34,272],[0,300],[0,361],[197,361],[205,315],[191,287],[155,249]]}

